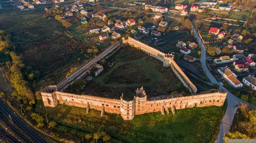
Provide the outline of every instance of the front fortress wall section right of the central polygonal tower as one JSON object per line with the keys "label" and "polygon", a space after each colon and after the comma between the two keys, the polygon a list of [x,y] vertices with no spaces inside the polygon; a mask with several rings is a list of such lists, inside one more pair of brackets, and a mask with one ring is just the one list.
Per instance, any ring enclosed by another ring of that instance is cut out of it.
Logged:
{"label": "front fortress wall section right of the central polygonal tower", "polygon": [[147,100],[135,103],[135,115],[161,112],[162,107],[169,110],[172,106],[175,109],[185,109],[204,106],[222,106],[227,93],[206,93],[192,96],[176,97],[170,99]]}

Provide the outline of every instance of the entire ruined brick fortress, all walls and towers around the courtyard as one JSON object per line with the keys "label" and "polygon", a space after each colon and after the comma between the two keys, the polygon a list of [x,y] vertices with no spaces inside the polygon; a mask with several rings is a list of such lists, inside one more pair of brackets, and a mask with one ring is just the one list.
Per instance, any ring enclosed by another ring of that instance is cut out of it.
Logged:
{"label": "entire ruined brick fortress, all walls and towers around the courtyard", "polygon": [[[44,106],[55,107],[58,104],[66,104],[69,106],[92,108],[101,111],[101,116],[104,112],[109,112],[121,114],[121,117],[124,120],[132,120],[135,115],[150,112],[162,112],[162,114],[164,114],[165,111],[169,113],[169,109],[171,109],[171,112],[175,113],[175,110],[177,109],[223,105],[227,95],[226,92],[220,90],[211,90],[209,92],[195,94],[197,91],[195,85],[176,64],[172,54],[162,53],[161,51],[136,41],[131,37],[128,37],[127,40],[123,39],[123,43],[140,47],[141,50],[148,53],[148,55],[154,56],[158,60],[162,61],[163,66],[171,66],[174,73],[182,81],[183,85],[189,88],[192,95],[183,96],[182,94],[175,94],[148,98],[143,87],[135,90],[136,95],[132,100],[124,99],[123,94],[121,95],[120,99],[108,99],[90,95],[78,95],[61,92],[63,88],[86,75],[88,73],[88,69],[92,67],[98,68],[98,72],[96,74],[99,74],[103,70],[103,67],[95,64],[95,62],[117,49],[120,44],[119,42],[116,42],[108,47],[107,50],[103,51],[99,56],[83,64],[80,68],[78,68],[78,70],[69,75],[65,80],[61,81],[57,86],[45,87],[41,91]],[[88,109],[85,110],[85,112],[88,111]]]}

